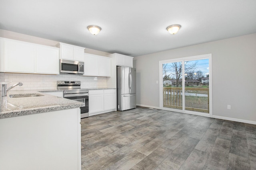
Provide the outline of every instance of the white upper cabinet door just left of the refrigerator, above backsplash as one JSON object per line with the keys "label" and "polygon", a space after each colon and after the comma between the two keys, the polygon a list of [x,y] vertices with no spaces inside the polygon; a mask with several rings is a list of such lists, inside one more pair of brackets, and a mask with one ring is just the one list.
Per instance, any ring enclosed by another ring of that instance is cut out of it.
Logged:
{"label": "white upper cabinet door just left of the refrigerator, above backsplash", "polygon": [[99,76],[111,76],[111,59],[108,57],[98,57]]}

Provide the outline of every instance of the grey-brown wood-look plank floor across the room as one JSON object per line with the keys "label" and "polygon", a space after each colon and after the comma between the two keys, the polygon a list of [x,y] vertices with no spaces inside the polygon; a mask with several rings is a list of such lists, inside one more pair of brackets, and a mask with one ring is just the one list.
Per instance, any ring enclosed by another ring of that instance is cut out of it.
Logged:
{"label": "grey-brown wood-look plank floor across the room", "polygon": [[82,170],[256,170],[256,125],[146,107],[81,124]]}

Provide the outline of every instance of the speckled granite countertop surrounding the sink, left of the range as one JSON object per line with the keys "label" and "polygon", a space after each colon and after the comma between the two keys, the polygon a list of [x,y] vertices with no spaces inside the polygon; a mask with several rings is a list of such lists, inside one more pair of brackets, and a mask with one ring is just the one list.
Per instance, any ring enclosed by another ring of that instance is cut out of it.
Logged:
{"label": "speckled granite countertop surrounding the sink, left of the range", "polygon": [[[42,92],[50,92],[51,90],[21,90],[8,91],[6,97],[0,97],[0,119],[8,117],[16,117],[21,115],[30,115],[35,113],[44,113],[49,111],[57,111],[64,109],[72,109],[83,107],[84,103],[52,96]],[[54,90],[51,92],[56,92]],[[10,98],[10,95],[17,94],[41,94],[43,96]]]}

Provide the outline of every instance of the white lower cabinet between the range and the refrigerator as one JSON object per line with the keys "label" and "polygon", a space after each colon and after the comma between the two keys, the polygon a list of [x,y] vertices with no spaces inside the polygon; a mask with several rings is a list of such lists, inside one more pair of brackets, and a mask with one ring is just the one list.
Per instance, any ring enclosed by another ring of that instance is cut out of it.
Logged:
{"label": "white lower cabinet between the range and the refrigerator", "polygon": [[116,111],[116,89],[89,90],[89,116]]}

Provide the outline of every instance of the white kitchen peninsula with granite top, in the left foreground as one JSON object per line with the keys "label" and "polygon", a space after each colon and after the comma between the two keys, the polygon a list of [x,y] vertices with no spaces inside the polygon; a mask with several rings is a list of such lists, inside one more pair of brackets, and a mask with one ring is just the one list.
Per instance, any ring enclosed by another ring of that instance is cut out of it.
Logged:
{"label": "white kitchen peninsula with granite top, in the left foreground", "polygon": [[37,91],[0,97],[0,169],[81,169],[82,106]]}

